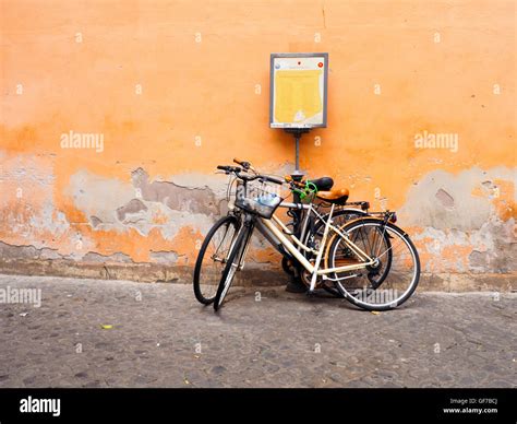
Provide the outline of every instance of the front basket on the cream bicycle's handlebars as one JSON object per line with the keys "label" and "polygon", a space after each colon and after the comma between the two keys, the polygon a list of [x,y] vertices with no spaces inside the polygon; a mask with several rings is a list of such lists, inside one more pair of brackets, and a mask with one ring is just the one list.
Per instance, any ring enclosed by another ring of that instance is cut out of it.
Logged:
{"label": "front basket on the cream bicycle's handlebars", "polygon": [[244,186],[242,181],[237,182],[235,205],[266,220],[272,217],[282,200],[272,185],[253,181]]}

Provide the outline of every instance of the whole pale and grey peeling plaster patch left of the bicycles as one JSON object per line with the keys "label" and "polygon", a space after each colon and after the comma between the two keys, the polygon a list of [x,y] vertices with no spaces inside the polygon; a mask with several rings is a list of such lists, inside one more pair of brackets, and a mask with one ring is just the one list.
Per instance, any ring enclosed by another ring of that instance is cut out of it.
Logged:
{"label": "whole pale and grey peeling plaster patch left of the bicycles", "polygon": [[[95,229],[125,232],[134,228],[147,236],[158,227],[164,238],[171,240],[185,225],[196,227],[203,234],[213,225],[218,208],[211,189],[189,189],[171,182],[149,184],[142,168],[133,172],[132,177],[136,181],[135,187],[81,170],[71,177],[67,193],[73,197],[75,207],[89,216]],[[169,196],[171,188],[176,196],[173,201]],[[140,198],[135,198],[137,189],[142,195]],[[212,205],[204,204],[206,199],[213,199]],[[176,210],[171,209],[173,205],[187,208]],[[160,223],[156,222],[156,216],[160,217]],[[87,245],[87,248],[91,246]],[[72,254],[72,257],[76,259],[77,254]]]}

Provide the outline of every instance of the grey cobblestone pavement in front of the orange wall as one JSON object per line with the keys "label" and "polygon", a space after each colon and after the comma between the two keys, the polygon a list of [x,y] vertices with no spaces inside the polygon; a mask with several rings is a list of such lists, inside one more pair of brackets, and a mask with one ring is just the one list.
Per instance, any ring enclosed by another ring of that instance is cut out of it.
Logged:
{"label": "grey cobblestone pavement in front of the orange wall", "polygon": [[375,315],[233,288],[216,315],[187,284],[0,275],[21,287],[41,305],[0,304],[0,387],[517,386],[515,294],[417,292]]}

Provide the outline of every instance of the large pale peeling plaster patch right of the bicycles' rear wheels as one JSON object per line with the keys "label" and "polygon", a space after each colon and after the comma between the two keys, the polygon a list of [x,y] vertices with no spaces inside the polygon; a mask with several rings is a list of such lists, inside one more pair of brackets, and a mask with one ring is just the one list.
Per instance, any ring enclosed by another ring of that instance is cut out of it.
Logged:
{"label": "large pale peeling plaster patch right of the bicycles' rear wheels", "polygon": [[[486,172],[473,168],[457,176],[437,170],[411,189],[399,216],[405,225],[422,227],[411,238],[424,242],[429,254],[422,263],[424,271],[517,270],[515,220],[503,222],[491,197],[472,196],[474,189],[492,189],[494,179],[512,180],[513,174],[502,167]],[[440,204],[429,201],[433,192]]]}

